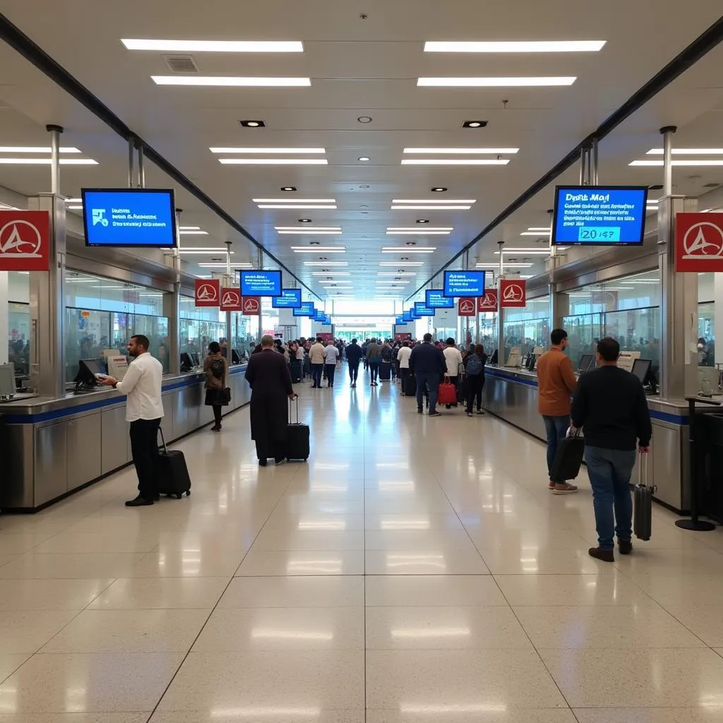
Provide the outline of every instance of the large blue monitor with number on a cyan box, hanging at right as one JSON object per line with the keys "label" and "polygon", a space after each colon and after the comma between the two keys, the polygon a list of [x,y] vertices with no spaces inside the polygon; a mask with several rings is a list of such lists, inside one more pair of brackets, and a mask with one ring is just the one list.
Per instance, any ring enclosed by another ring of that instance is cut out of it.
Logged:
{"label": "large blue monitor with number on a cyan box, hanging at right", "polygon": [[647,198],[646,186],[557,186],[552,243],[642,244]]}

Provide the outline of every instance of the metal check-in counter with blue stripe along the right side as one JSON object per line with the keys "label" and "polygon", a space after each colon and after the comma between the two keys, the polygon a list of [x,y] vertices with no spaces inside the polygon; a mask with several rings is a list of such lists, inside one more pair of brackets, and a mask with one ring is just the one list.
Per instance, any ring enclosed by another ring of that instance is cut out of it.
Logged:
{"label": "metal check-in counter with blue stripe along the right side", "polygon": [[[487,410],[544,442],[542,417],[537,411],[537,375],[522,369],[487,367],[484,403]],[[688,403],[648,397],[653,423],[649,484],[655,499],[677,513],[690,507]],[[633,481],[637,479],[637,467]]]}

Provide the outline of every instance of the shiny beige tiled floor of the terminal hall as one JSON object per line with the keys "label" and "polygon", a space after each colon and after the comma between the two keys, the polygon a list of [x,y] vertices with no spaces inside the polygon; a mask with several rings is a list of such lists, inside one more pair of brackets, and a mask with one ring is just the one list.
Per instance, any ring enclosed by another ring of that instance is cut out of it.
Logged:
{"label": "shiny beige tiled floor of the terminal hall", "polygon": [[596,562],[539,442],[299,391],[307,464],[259,469],[244,410],[179,445],[189,498],[0,516],[0,723],[723,723],[723,531],[656,507]]}

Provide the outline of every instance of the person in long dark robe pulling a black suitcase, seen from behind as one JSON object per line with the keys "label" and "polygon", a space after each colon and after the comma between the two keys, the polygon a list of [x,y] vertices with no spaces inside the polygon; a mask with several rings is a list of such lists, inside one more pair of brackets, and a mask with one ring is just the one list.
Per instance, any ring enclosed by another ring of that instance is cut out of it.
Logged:
{"label": "person in long dark robe pulling a black suitcase, seen from behind", "polygon": [[251,438],[256,442],[259,465],[270,458],[281,464],[286,458],[288,399],[295,399],[291,374],[282,354],[274,351],[273,337],[261,338],[259,354],[249,359],[246,380],[251,387]]}

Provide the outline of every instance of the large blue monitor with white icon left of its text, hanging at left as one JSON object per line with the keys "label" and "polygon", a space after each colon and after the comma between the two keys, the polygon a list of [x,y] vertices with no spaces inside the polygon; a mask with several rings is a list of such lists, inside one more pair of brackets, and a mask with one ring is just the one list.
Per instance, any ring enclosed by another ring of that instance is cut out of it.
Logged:
{"label": "large blue monitor with white icon left of its text, hanging at left", "polygon": [[176,246],[176,205],[170,189],[84,188],[86,246]]}

